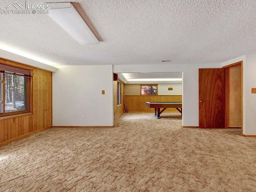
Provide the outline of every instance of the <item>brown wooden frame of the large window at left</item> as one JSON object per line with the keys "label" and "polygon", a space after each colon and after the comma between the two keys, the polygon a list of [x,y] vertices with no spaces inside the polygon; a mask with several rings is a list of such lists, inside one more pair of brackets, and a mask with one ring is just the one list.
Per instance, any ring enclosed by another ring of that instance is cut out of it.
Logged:
{"label": "brown wooden frame of the large window at left", "polygon": [[[20,68],[20,67],[16,67],[16,66],[12,66],[12,65],[8,65],[8,64],[4,64],[4,63],[0,63],[1,66],[6,66],[6,67],[10,67],[13,69],[17,69],[17,70],[26,70],[26,71],[30,71],[30,74],[32,74],[32,70],[31,69],[27,69],[27,68]],[[9,75],[14,75],[14,76],[23,76],[24,78],[26,78],[26,85],[24,86],[24,94],[26,94],[26,109],[25,110],[18,110],[18,111],[13,111],[13,112],[6,112],[5,111],[5,100],[6,100],[6,90],[5,90],[5,75],[9,74]],[[20,74],[20,73],[16,73],[14,71],[12,71],[11,73],[8,73],[4,70],[0,70],[0,86],[1,86],[1,108],[2,108],[2,112],[0,111],[0,119],[5,118],[5,117],[9,117],[9,116],[14,116],[14,115],[22,115],[22,114],[28,114],[32,112],[32,75],[26,75],[26,74]]]}

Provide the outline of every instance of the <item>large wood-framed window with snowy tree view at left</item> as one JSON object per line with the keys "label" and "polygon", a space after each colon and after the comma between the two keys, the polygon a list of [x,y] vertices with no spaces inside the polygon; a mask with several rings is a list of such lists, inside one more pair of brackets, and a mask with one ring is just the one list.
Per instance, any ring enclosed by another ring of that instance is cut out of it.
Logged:
{"label": "large wood-framed window with snowy tree view at left", "polygon": [[0,117],[30,112],[31,70],[0,64]]}

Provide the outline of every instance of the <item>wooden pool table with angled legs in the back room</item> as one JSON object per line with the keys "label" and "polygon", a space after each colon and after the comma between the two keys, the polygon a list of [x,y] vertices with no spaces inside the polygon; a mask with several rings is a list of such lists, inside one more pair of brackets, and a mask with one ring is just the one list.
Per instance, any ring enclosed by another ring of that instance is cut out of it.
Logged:
{"label": "wooden pool table with angled legs in the back room", "polygon": [[[160,114],[166,108],[176,108],[182,115],[182,102],[146,102],[148,108],[155,108],[155,116],[160,119]],[[163,108],[161,110],[161,108]],[[180,108],[180,109],[179,109]]]}

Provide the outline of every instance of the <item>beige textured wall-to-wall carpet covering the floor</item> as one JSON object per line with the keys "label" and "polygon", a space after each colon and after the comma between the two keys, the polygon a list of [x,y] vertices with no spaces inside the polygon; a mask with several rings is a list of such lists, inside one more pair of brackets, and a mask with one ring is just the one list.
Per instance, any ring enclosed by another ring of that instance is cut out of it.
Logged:
{"label": "beige textured wall-to-wall carpet covering the floor", "polygon": [[256,138],[123,114],[114,128],[52,128],[0,147],[0,192],[254,192]]}

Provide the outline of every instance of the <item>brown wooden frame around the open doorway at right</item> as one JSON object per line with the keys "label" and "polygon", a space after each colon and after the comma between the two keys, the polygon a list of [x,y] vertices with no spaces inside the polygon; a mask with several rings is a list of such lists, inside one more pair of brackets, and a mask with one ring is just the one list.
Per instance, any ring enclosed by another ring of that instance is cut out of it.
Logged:
{"label": "brown wooden frame around the open doorway at right", "polygon": [[228,104],[229,104],[229,98],[228,98],[228,87],[229,87],[229,73],[228,73],[228,70],[234,66],[238,66],[238,65],[241,65],[241,112],[242,112],[242,132],[241,132],[241,135],[243,134],[243,61],[239,61],[239,62],[236,62],[236,63],[233,63],[233,64],[230,64],[230,65],[227,65],[227,66],[223,66],[222,68],[224,68],[224,77],[225,77],[225,128],[227,129],[228,128]]}

